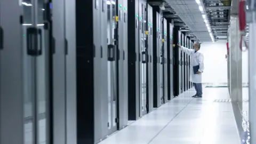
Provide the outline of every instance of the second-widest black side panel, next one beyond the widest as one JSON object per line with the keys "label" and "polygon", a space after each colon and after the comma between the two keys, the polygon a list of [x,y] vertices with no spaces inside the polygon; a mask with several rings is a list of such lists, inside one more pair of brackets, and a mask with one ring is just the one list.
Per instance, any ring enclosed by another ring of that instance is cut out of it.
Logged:
{"label": "second-widest black side panel, next one beyond the widest", "polygon": [[139,2],[128,1],[128,119],[139,118],[139,94],[136,82],[136,62],[138,53]]}

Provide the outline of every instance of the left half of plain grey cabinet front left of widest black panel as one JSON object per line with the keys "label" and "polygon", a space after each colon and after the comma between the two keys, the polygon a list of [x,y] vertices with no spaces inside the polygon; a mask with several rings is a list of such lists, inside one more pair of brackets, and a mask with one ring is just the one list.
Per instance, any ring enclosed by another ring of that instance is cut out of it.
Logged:
{"label": "left half of plain grey cabinet front left of widest black panel", "polygon": [[[54,5],[54,9],[53,6]],[[53,17],[47,17],[50,29],[49,41],[52,43],[52,82],[53,85],[53,143],[66,142],[66,59],[65,59],[65,2],[53,1],[45,6],[45,12],[52,12]],[[51,26],[52,25],[52,26]],[[55,49],[60,47],[60,49]]]}

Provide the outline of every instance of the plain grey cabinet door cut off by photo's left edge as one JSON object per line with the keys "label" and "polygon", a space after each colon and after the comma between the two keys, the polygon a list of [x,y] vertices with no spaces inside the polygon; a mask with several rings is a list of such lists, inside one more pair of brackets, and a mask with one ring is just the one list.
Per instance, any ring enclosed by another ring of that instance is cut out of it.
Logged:
{"label": "plain grey cabinet door cut off by photo's left edge", "polygon": [[[26,27],[19,21],[22,6],[18,1],[0,1],[0,143],[26,143],[24,139],[27,142],[34,139],[25,136],[35,136],[31,129],[32,100],[23,93],[22,52],[26,47],[23,47],[22,40],[25,41],[26,37],[20,28],[26,30]],[[25,13],[31,19],[28,14]],[[26,132],[28,134],[25,135]]]}

